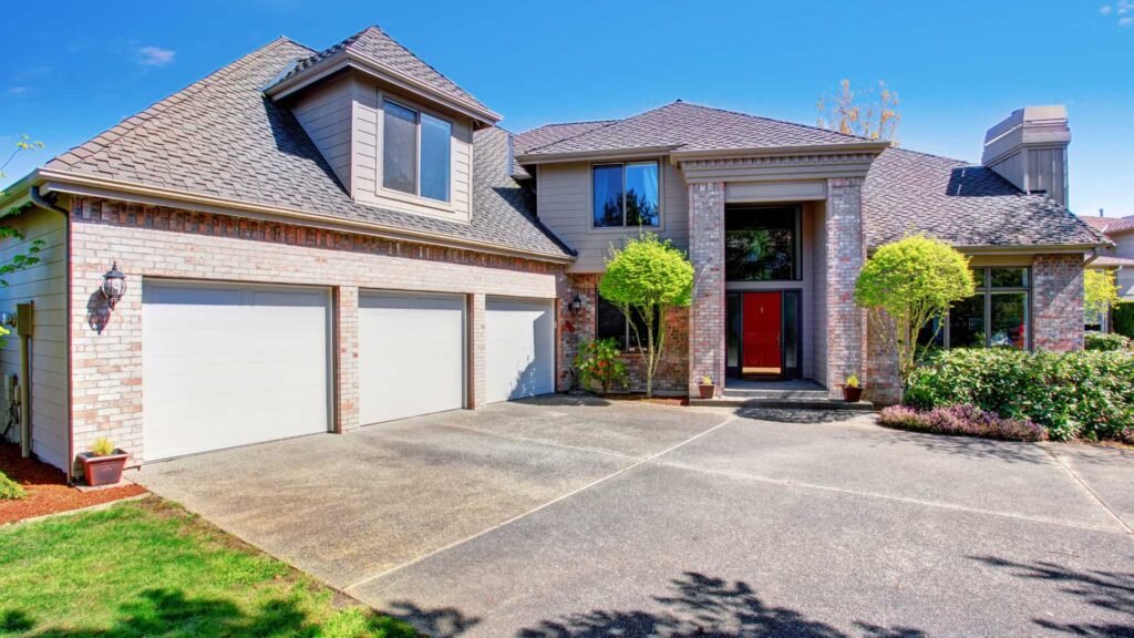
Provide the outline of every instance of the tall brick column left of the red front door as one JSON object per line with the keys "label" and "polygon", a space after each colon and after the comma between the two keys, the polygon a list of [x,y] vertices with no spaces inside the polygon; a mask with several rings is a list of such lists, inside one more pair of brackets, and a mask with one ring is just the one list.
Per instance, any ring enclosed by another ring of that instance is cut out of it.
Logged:
{"label": "tall brick column left of the red front door", "polygon": [[689,184],[689,396],[708,375],[725,388],[725,184]]}

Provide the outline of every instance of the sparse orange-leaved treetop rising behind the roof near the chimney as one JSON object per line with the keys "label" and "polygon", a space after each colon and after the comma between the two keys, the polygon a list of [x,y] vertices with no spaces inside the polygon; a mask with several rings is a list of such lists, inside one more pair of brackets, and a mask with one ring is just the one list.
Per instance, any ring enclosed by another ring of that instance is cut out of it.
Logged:
{"label": "sparse orange-leaved treetop rising behind the roof near the chimney", "polygon": [[839,90],[826,94],[815,102],[819,111],[819,127],[857,135],[870,140],[882,140],[898,144],[898,94],[879,81],[877,87],[855,91],[850,81],[839,82]]}

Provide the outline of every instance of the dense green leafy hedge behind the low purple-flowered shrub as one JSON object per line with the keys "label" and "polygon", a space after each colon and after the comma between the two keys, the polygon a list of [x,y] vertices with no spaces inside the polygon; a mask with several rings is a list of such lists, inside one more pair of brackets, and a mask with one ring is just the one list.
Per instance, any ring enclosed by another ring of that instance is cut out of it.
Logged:
{"label": "dense green leafy hedge behind the low purple-flowered shrub", "polygon": [[915,370],[905,402],[1031,419],[1055,439],[1134,442],[1134,354],[957,349]]}

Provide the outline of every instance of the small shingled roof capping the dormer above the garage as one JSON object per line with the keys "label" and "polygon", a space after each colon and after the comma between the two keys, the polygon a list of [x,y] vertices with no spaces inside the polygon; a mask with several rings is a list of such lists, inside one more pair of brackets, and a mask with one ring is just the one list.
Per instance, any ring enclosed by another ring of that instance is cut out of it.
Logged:
{"label": "small shingled roof capping the dormer above the garage", "polygon": [[[268,91],[270,92],[272,87],[304,75],[318,67],[320,62],[341,53],[357,56],[393,76],[411,79],[445,96],[475,107],[481,111],[492,114],[492,109],[488,108],[460,86],[457,86],[456,82],[449,79],[441,72],[415,56],[413,51],[399,44],[378,26],[366,27],[342,42],[299,59],[290,70],[287,70],[276,82],[272,82]],[[496,116],[496,120],[499,119],[500,117]]]}

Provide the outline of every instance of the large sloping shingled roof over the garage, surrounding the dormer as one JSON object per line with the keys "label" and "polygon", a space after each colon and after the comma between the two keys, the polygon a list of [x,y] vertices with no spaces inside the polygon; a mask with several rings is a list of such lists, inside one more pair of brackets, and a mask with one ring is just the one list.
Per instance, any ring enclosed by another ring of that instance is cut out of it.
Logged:
{"label": "large sloping shingled roof over the garage, surrounding the dormer", "polygon": [[263,87],[312,50],[279,39],[58,156],[45,170],[265,204],[564,258],[510,177],[508,133],[473,140],[468,224],[350,199],[291,112]]}

